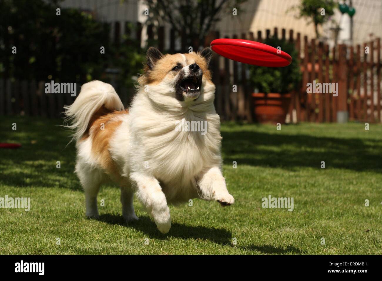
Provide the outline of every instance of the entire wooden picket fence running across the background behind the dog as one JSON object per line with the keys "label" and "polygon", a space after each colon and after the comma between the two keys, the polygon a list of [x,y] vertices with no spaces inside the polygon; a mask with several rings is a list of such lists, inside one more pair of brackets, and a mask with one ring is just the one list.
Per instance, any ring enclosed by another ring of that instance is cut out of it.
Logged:
{"label": "entire wooden picket fence running across the background behind the dog", "polygon": [[[141,38],[142,25],[137,23],[135,29],[126,22],[125,34]],[[120,44],[120,23],[113,27],[113,40]],[[161,51],[164,51],[165,40],[169,40],[168,52],[188,52],[188,46],[182,35],[175,31],[168,32],[165,38],[163,27],[148,26],[147,35]],[[302,82],[299,91],[291,93],[291,105],[288,110],[289,122],[336,122],[338,111],[347,111],[349,120],[381,122],[381,59],[380,39],[377,38],[363,45],[337,45],[330,48],[328,44],[308,41],[301,34],[294,34],[285,29],[279,34],[275,28],[273,34],[267,29],[263,37],[262,31],[233,36],[233,38],[249,39],[262,42],[270,36],[281,36],[282,39],[293,42],[300,54]],[[156,36],[154,36],[156,34]],[[219,32],[210,32],[204,45],[220,38]],[[181,39],[180,49],[175,42]],[[365,50],[368,52],[365,52]],[[253,116],[253,87],[249,83],[249,73],[246,64],[234,62],[215,55],[212,61],[212,79],[216,85],[215,107],[222,120],[256,121]],[[307,83],[338,83],[338,96],[332,94],[307,93]],[[0,79],[0,115],[25,114],[44,117],[62,117],[63,105],[71,104],[75,97],[70,94],[46,94],[44,84],[50,81],[11,81]],[[233,91],[237,85],[237,91]],[[117,93],[125,106],[128,106],[133,96],[133,88],[115,86]],[[81,85],[77,84],[77,94]]]}

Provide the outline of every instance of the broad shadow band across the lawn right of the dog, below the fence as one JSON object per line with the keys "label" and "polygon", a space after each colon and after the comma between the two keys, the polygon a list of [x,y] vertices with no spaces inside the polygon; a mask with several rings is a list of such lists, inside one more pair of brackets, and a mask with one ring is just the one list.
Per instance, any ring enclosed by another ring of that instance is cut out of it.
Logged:
{"label": "broad shadow band across the lawn right of the dog, below the fence", "polygon": [[[225,163],[265,167],[327,167],[382,172],[379,140],[330,138],[311,135],[268,134],[253,131],[222,132]],[[366,142],[367,141],[367,142]]]}

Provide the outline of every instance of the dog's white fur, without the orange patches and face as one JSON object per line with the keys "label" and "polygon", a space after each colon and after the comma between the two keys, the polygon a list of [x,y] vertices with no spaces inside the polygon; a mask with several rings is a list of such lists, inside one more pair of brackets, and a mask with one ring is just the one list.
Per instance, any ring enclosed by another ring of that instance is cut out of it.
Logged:
{"label": "dog's white fur, without the orange patches and face", "polygon": [[[78,139],[89,118],[102,104],[120,108],[121,102],[112,87],[92,81],[66,114],[74,119],[72,128]],[[106,90],[107,89],[107,90]],[[138,90],[128,114],[121,115],[121,124],[110,141],[110,154],[126,179],[121,187],[123,216],[137,219],[132,203],[133,192],[154,218],[158,229],[167,233],[171,227],[168,203],[192,198],[234,203],[222,175],[220,156],[220,118],[214,108],[215,85],[202,80],[201,94],[194,101],[181,102],[174,97],[171,76],[159,84]],[[207,121],[207,133],[177,132],[176,122]],[[77,142],[76,173],[84,187],[87,216],[98,216],[96,196],[99,185],[108,178],[91,155],[91,138]],[[147,167],[148,164],[148,167]]]}

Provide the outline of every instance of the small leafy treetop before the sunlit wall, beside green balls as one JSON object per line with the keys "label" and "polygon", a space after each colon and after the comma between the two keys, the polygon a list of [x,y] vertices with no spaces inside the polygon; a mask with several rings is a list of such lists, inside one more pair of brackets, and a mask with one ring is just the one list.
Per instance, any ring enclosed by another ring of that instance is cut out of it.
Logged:
{"label": "small leafy treetop before the sunlit wall, beside green balls", "polygon": [[[301,0],[301,3],[293,6],[290,11],[298,10],[297,18],[306,18],[308,24],[314,23],[316,38],[319,38],[318,26],[330,20],[336,6],[334,0]],[[325,9],[325,15],[322,15],[322,9]]]}

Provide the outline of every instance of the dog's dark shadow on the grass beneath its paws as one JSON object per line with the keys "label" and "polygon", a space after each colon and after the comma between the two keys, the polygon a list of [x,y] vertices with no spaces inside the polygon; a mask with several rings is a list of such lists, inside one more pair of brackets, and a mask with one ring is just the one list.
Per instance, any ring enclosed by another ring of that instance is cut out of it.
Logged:
{"label": "dog's dark shadow on the grass beneath its paws", "polygon": [[261,253],[301,253],[301,250],[288,246],[286,248],[274,247],[272,245],[232,245],[232,233],[223,228],[206,226],[186,226],[185,224],[173,223],[167,234],[162,234],[157,229],[155,223],[147,216],[139,217],[138,221],[126,225],[125,220],[120,215],[102,214],[99,221],[111,225],[126,226],[141,231],[150,238],[165,240],[167,237],[181,239],[208,240],[223,246],[235,247],[246,251],[257,251]]}

